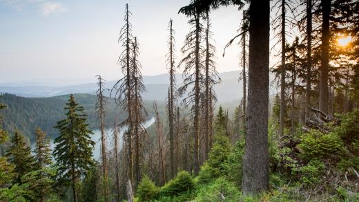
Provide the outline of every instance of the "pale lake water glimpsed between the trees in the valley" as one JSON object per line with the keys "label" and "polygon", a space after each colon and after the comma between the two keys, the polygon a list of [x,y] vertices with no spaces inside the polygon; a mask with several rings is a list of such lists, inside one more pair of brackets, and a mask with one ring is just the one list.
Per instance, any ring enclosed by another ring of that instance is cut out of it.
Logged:
{"label": "pale lake water glimpsed between the trees in the valley", "polygon": [[[143,123],[144,127],[145,128],[151,127],[151,125],[153,125],[155,120],[156,119],[154,117],[150,118],[149,120],[146,120],[146,122]],[[119,148],[122,147],[122,135],[124,134],[124,131],[126,131],[126,129],[128,129],[128,126],[124,126],[119,129],[119,133],[118,133]],[[95,160],[99,160],[101,154],[101,131],[99,129],[96,129],[93,130],[93,133],[94,134],[91,136],[91,140],[95,142],[95,147],[93,149],[93,157],[95,158]],[[113,129],[106,129],[106,143],[107,143],[106,145],[108,151],[113,148]],[[35,148],[35,143],[32,143],[31,147],[33,151]],[[52,149],[52,151],[55,148],[54,139],[51,139],[50,148]]]}

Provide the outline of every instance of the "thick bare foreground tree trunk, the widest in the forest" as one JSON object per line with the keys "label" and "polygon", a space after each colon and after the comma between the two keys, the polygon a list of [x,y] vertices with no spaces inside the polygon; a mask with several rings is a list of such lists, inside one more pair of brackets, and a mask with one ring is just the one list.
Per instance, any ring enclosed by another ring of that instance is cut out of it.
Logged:
{"label": "thick bare foreground tree trunk, the widest in the forest", "polygon": [[244,195],[269,188],[269,0],[249,8],[249,86],[247,136],[243,156]]}

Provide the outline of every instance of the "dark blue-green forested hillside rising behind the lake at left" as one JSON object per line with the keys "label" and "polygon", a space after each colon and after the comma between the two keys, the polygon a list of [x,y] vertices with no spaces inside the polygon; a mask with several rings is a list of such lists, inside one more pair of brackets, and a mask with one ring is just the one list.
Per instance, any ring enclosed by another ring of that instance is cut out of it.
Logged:
{"label": "dark blue-green forested hillside rising behind the lake at left", "polygon": [[[18,129],[23,134],[33,140],[35,129],[40,127],[46,131],[50,137],[57,136],[58,131],[54,128],[56,122],[65,117],[64,107],[69,95],[60,95],[50,98],[23,98],[12,94],[3,94],[0,98],[1,103],[6,104],[6,109],[0,113],[3,116],[3,128],[12,133]],[[96,95],[75,94],[75,100],[85,108],[88,115],[88,123],[91,129],[98,127],[97,117],[95,116]],[[148,116],[152,116],[152,100],[144,100],[144,106]],[[163,103],[158,103],[159,109],[164,111]],[[119,122],[126,117],[125,112],[116,109],[115,101],[108,98],[106,107],[106,125],[113,126],[115,116],[118,115]]]}

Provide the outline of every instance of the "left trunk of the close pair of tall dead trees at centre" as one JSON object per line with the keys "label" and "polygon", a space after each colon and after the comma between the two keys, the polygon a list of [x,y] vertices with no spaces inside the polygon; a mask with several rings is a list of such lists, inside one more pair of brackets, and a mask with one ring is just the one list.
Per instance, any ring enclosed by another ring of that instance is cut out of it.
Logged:
{"label": "left trunk of the close pair of tall dead trees at centre", "polygon": [[200,171],[200,13],[195,14],[195,117],[194,117],[194,168],[195,174]]}

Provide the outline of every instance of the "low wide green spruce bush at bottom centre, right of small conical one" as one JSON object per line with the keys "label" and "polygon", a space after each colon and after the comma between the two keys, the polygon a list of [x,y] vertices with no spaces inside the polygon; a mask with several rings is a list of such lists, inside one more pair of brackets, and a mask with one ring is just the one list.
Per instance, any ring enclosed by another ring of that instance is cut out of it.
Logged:
{"label": "low wide green spruce bush at bottom centre, right of small conical one", "polygon": [[161,196],[177,196],[186,192],[192,192],[195,183],[193,178],[186,171],[180,171],[177,176],[166,183],[161,190]]}

